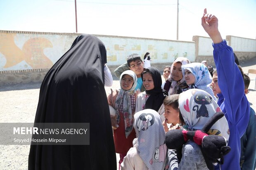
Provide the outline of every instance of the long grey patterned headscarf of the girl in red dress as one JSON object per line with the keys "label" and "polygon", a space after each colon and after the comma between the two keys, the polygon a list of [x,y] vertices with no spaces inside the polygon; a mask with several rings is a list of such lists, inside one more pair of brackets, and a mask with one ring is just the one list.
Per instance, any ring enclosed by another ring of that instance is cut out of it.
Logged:
{"label": "long grey patterned headscarf of the girl in red dress", "polygon": [[[122,83],[122,78],[123,75],[129,75],[133,77],[133,86],[130,88],[130,90],[124,90],[121,86]],[[124,71],[121,76],[120,76],[120,91],[117,95],[116,98],[116,103],[115,103],[115,109],[116,109],[116,121],[119,123],[120,121],[120,114],[119,114],[119,109],[120,105],[123,103],[123,110],[121,111],[124,114],[124,123],[125,123],[125,133],[126,133],[126,138],[128,135],[130,135],[131,131],[133,130],[133,111],[131,107],[131,99],[129,95],[133,95],[136,93],[135,87],[137,86],[137,76],[135,72],[132,70],[126,70]]]}

